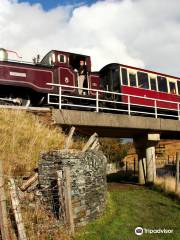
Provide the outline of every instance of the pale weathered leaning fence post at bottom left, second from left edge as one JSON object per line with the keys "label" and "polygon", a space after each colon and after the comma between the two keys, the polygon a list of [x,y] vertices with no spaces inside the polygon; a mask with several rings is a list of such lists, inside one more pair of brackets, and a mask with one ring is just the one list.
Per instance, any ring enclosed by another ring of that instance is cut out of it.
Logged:
{"label": "pale weathered leaning fence post at bottom left, second from left edge", "polygon": [[21,215],[20,202],[18,199],[16,185],[15,185],[15,181],[13,178],[9,179],[9,186],[10,186],[12,210],[14,213],[17,230],[18,230],[18,239],[19,240],[27,240],[24,223],[23,223],[23,219],[22,219],[22,215]]}

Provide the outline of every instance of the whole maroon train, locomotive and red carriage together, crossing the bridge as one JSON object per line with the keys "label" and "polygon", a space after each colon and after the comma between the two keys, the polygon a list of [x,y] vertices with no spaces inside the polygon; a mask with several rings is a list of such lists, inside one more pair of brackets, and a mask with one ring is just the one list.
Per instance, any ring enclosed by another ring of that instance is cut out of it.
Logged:
{"label": "whole maroon train, locomotive and red carriage together, crossing the bridge", "polygon": [[[92,72],[90,56],[58,50],[48,52],[41,61],[38,56],[33,63],[11,60],[9,53],[0,49],[0,104],[47,105],[48,94],[56,95],[58,85],[62,85],[62,93],[76,96],[73,98],[76,102],[80,101],[78,96],[86,96],[86,100],[88,97],[95,98],[98,90],[101,104],[107,109],[110,105],[123,109],[130,98],[132,106],[147,107],[147,111],[151,111],[154,105],[166,112],[180,111],[178,77],[118,63]],[[85,69],[82,74],[79,71],[80,62]],[[84,75],[83,83],[81,75]],[[64,101],[69,100],[66,98]]]}

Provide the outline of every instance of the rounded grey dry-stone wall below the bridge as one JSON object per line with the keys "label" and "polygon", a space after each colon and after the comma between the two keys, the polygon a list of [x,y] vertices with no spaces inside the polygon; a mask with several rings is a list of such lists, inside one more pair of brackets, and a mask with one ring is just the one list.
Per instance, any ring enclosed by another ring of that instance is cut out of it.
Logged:
{"label": "rounded grey dry-stone wall below the bridge", "polygon": [[75,226],[83,226],[103,213],[106,203],[106,164],[101,151],[50,151],[41,154],[39,184],[48,207],[58,213],[57,170],[70,167]]}

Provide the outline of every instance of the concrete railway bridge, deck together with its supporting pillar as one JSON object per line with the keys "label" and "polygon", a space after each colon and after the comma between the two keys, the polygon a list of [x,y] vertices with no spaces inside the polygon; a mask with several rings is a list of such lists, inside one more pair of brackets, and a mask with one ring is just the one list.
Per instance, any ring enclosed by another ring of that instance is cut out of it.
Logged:
{"label": "concrete railway bridge, deck together with its supporting pillar", "polygon": [[155,180],[155,146],[160,138],[180,139],[179,120],[66,109],[52,110],[52,117],[55,123],[76,126],[86,134],[96,132],[101,137],[133,138],[141,184]]}

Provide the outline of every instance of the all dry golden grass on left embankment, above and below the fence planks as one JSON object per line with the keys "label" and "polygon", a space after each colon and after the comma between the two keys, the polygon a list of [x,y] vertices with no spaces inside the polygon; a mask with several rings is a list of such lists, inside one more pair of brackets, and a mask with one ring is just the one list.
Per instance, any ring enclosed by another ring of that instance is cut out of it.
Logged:
{"label": "all dry golden grass on left embankment, above and below the fence planks", "polygon": [[[16,178],[19,186],[22,178],[38,166],[41,151],[62,149],[65,135],[58,127],[43,123],[41,116],[18,110],[0,110],[0,158],[4,163],[5,181],[9,176]],[[14,219],[11,209],[8,185],[6,184],[8,212],[11,221],[9,228],[15,236]],[[19,193],[20,194],[20,193]],[[25,195],[24,195],[25,194]],[[21,192],[22,218],[28,239],[67,240],[69,236],[59,225],[52,213],[47,212],[37,197]],[[19,196],[20,196],[19,195]]]}

